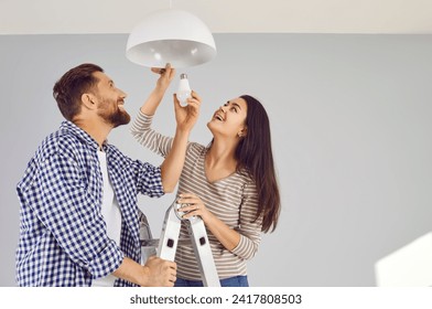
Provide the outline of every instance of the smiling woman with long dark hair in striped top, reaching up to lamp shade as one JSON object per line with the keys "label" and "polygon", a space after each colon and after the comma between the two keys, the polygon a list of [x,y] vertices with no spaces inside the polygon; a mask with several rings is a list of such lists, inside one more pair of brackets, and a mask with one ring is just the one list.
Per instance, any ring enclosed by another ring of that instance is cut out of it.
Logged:
{"label": "smiling woman with long dark hair in striped top, reaching up to lamp shade", "polygon": [[[132,126],[132,135],[150,150],[166,156],[172,138],[151,129],[153,115],[175,72],[152,68],[161,76]],[[174,100],[176,98],[174,97]],[[199,96],[192,92],[193,108]],[[208,147],[190,142],[179,182],[180,209],[185,217],[199,215],[207,228],[220,286],[248,286],[246,262],[258,251],[261,232],[274,231],[280,213],[270,142],[262,105],[251,96],[228,100],[207,124]],[[183,226],[181,238],[187,238]],[[175,286],[203,286],[192,245],[179,246]]]}

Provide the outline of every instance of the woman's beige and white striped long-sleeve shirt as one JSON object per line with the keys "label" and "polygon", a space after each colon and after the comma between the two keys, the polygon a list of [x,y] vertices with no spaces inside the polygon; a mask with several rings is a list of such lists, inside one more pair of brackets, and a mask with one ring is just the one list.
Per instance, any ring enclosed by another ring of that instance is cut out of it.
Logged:
{"label": "woman's beige and white striped long-sleeve shirt", "polygon": [[[173,138],[153,130],[152,119],[152,116],[140,111],[131,132],[142,146],[165,157],[170,152]],[[233,251],[228,251],[207,230],[219,279],[247,275],[247,260],[255,256],[261,239],[261,220],[255,221],[258,207],[257,189],[255,182],[246,173],[240,172],[209,182],[204,169],[207,150],[207,147],[196,142],[187,145],[177,193],[196,194],[212,213],[240,234],[239,244]],[[180,238],[188,238],[187,228],[183,223]],[[177,277],[202,280],[192,244],[184,243],[185,245],[177,247],[175,256]]]}

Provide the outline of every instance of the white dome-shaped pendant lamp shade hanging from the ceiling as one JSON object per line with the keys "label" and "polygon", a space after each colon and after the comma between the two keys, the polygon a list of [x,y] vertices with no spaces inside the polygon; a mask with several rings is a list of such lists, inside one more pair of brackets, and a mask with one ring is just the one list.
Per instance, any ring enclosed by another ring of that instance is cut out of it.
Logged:
{"label": "white dome-shaped pendant lamp shade hanging from the ceiling", "polygon": [[207,25],[194,14],[176,9],[147,15],[129,34],[126,56],[149,66],[188,67],[216,56],[216,45]]}

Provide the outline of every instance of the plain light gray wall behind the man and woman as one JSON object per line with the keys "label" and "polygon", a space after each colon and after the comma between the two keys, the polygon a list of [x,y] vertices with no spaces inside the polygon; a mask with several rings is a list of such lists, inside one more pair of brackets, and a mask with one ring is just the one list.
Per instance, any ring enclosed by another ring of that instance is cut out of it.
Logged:
{"label": "plain light gray wall behind the man and woman", "polygon": [[[280,224],[249,263],[250,284],[374,286],[376,260],[431,231],[432,36],[215,39],[213,62],[177,72],[204,98],[192,140],[209,141],[205,124],[224,102],[257,96],[270,116],[282,191]],[[97,63],[129,94],[132,116],[153,87],[155,76],[126,60],[126,34],[0,36],[0,286],[14,286],[15,184],[62,121],[54,82],[72,66]],[[171,95],[154,125],[174,132]],[[128,128],[109,140],[159,164]],[[173,199],[140,200],[155,236]]]}

